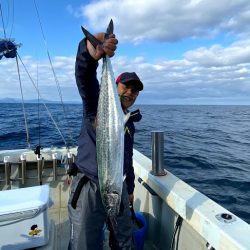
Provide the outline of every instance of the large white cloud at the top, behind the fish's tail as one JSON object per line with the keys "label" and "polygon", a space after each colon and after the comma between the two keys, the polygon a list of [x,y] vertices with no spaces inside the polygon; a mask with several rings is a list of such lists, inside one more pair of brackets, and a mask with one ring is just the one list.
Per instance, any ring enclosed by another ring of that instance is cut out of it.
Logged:
{"label": "large white cloud at the top, behind the fish's tail", "polygon": [[[71,12],[72,12],[71,8]],[[218,32],[249,33],[248,0],[101,0],[75,9],[87,25],[105,30],[114,19],[119,41],[138,43],[145,39],[178,41],[187,37],[211,37]],[[80,13],[80,14],[79,14]]]}

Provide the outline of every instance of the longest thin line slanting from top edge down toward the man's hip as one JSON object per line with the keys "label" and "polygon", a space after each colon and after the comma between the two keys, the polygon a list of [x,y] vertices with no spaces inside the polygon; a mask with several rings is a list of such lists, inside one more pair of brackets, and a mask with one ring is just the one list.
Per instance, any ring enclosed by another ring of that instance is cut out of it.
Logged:
{"label": "longest thin line slanting from top edge down toward the man's hip", "polygon": [[73,139],[73,136],[72,136],[72,131],[71,131],[70,126],[69,126],[69,122],[68,122],[68,117],[67,117],[67,112],[66,112],[66,109],[65,109],[65,105],[63,103],[62,91],[61,91],[60,84],[59,84],[58,78],[56,76],[56,73],[55,73],[55,70],[54,70],[54,67],[53,67],[53,64],[52,64],[52,60],[51,60],[50,53],[49,53],[49,50],[48,50],[47,41],[46,41],[45,34],[44,34],[44,31],[43,31],[43,27],[42,27],[42,22],[41,22],[41,19],[40,19],[40,16],[39,16],[39,12],[38,12],[38,8],[37,8],[37,5],[36,5],[36,0],[34,0],[34,5],[35,5],[35,8],[36,8],[36,13],[37,13],[37,17],[38,17],[40,29],[41,29],[41,32],[42,32],[42,37],[43,37],[43,40],[44,40],[44,44],[45,44],[45,47],[46,47],[48,59],[49,59],[50,66],[51,66],[51,69],[52,69],[52,72],[53,72],[53,76],[54,76],[54,79],[55,79],[55,82],[56,82],[57,91],[58,91],[58,94],[59,94],[59,97],[60,97],[60,100],[61,100],[61,105],[62,105],[62,108],[63,108],[64,119],[65,119],[65,121],[67,123],[68,134],[69,134],[69,137],[71,139],[72,146],[74,146],[75,142],[74,142],[74,139]]}

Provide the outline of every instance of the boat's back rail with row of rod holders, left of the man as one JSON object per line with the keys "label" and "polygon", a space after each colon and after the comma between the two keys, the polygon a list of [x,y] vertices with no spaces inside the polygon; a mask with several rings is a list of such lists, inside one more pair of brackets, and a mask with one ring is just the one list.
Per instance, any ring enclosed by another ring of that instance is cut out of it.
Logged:
{"label": "boat's back rail with row of rod holders, left of the man", "polygon": [[[67,152],[64,150],[56,150],[57,152],[46,149],[41,155],[34,154],[31,150],[24,152],[18,150],[7,150],[0,155],[0,183],[6,186],[24,186],[27,180],[37,180],[37,184],[41,185],[43,180],[56,181],[59,176],[67,175],[69,166],[75,160],[75,150]],[[51,169],[52,172],[45,169]],[[32,174],[27,174],[27,171]],[[60,171],[59,171],[60,170]]]}

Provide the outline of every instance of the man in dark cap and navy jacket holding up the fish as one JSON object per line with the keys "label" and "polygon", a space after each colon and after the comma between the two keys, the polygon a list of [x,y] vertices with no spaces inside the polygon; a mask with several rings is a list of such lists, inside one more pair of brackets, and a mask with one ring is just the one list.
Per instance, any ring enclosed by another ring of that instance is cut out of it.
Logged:
{"label": "man in dark cap and navy jacket holding up the fish", "polygon": [[[74,250],[102,249],[103,227],[107,220],[97,174],[95,118],[99,83],[96,71],[98,60],[104,54],[110,57],[114,55],[118,40],[114,34],[105,38],[105,33],[98,33],[95,37],[103,42],[103,46],[98,45],[95,49],[86,39],[81,40],[75,63],[77,87],[83,102],[83,120],[75,161],[77,173],[72,180],[68,202],[71,224],[69,249]],[[143,89],[143,84],[135,72],[122,73],[117,78],[116,84],[122,109],[124,113],[127,113],[128,108],[134,104],[139,92]],[[134,249],[129,203],[133,203],[135,187],[132,159],[134,122],[138,122],[140,119],[141,114],[139,110],[136,110],[131,112],[131,116],[125,124],[124,174],[126,178],[123,184],[117,226],[113,229],[109,227],[111,249]]]}

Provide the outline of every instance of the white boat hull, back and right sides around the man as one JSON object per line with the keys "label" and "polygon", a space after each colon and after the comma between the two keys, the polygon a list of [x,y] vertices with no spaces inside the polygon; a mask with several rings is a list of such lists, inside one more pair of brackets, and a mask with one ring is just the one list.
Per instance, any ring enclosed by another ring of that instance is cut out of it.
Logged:
{"label": "white boat hull, back and right sides around the man", "polygon": [[[44,160],[52,161],[53,152],[57,152],[60,159],[67,157],[66,149],[45,149],[42,152]],[[72,154],[75,152],[76,149],[71,150]],[[34,165],[27,171],[25,185],[17,180],[20,155],[23,153],[24,150],[0,151],[1,190],[38,185],[35,178],[37,159],[33,152],[25,151],[27,161],[33,161]],[[11,179],[14,179],[9,185],[4,181],[4,157],[6,156],[9,156]],[[152,175],[152,161],[136,150],[134,150],[133,159],[136,174],[134,208],[143,213],[148,225],[144,249],[169,249],[178,217],[183,219],[175,236],[175,244],[178,244],[179,250],[249,249],[249,224],[170,172],[167,171],[167,175],[161,177]],[[51,232],[51,237],[57,239],[55,241],[50,238],[49,243],[42,249],[66,250],[70,233],[67,215],[70,185],[67,183],[65,169],[62,166],[57,169],[57,180],[53,180],[52,166],[44,168],[42,173],[42,182],[49,183],[50,197],[53,201],[48,211],[49,218],[55,225],[55,232]]]}

